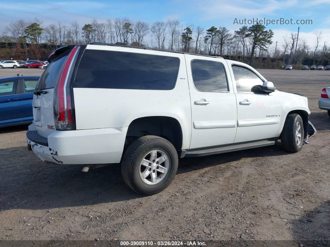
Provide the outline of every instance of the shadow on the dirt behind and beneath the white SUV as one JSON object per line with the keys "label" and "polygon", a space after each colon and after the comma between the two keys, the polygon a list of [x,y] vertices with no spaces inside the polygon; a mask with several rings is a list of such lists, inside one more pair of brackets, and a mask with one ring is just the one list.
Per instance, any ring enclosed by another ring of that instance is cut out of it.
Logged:
{"label": "shadow on the dirt behind and beneath the white SUV", "polygon": [[[243,157],[289,154],[281,144],[212,156],[183,158],[178,174]],[[24,147],[0,149],[0,209],[49,209],[127,201],[142,196],[123,181],[119,164],[81,172],[82,165],[40,161]],[[230,169],[230,168],[228,168]]]}

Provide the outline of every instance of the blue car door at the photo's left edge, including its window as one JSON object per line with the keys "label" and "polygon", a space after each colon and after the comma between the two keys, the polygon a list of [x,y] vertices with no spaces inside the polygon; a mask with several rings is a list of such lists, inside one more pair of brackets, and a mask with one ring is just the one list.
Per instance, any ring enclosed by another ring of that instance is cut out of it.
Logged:
{"label": "blue car door at the photo's left edge, including its window", "polygon": [[0,81],[0,126],[21,122],[17,79]]}

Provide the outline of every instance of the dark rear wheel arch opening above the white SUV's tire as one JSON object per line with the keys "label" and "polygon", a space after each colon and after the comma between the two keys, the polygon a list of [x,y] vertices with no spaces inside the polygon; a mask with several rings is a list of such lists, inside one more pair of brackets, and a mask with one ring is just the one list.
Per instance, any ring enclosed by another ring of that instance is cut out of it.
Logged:
{"label": "dark rear wheel arch opening above the white SUV's tire", "polygon": [[149,135],[167,139],[177,151],[182,149],[182,126],[176,118],[168,116],[147,116],[131,121],[128,125],[124,149],[136,139]]}

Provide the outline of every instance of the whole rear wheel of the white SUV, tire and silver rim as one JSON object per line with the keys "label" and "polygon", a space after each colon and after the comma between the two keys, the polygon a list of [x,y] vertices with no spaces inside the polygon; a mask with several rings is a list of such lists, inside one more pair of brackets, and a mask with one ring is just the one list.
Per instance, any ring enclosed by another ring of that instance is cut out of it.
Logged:
{"label": "whole rear wheel of the white SUV, tire and silver rim", "polygon": [[178,162],[178,153],[171,142],[158,136],[144,136],[127,148],[121,173],[131,189],[149,196],[170,185],[177,173]]}

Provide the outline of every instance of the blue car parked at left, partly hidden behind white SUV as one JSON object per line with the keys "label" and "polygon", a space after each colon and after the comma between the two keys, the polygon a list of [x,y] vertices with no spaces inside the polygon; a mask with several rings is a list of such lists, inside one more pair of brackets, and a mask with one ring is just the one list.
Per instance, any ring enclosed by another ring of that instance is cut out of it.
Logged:
{"label": "blue car parked at left, partly hidden behind white SUV", "polygon": [[0,78],[0,127],[32,123],[32,98],[39,76]]}

